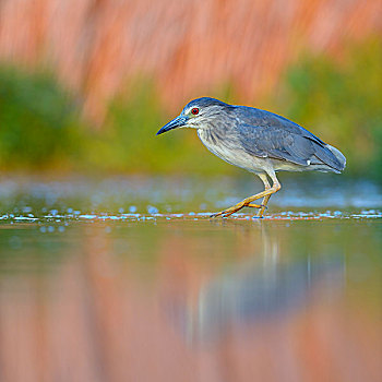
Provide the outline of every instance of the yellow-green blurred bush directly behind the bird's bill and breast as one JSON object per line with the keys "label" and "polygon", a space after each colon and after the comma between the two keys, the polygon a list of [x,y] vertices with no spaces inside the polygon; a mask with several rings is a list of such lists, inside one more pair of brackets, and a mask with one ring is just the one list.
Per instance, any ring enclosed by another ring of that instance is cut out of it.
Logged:
{"label": "yellow-green blurred bush directly behind the bird's bill and breast", "polygon": [[120,94],[111,102],[104,131],[89,141],[93,150],[88,151],[88,159],[97,168],[179,174],[234,170],[206,153],[195,131],[178,130],[171,136],[155,135],[176,116],[164,114],[166,108],[160,105],[152,82],[135,81],[129,94],[133,96]]}

